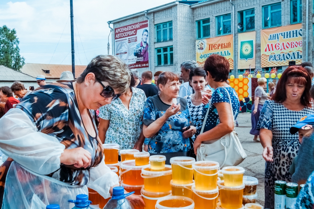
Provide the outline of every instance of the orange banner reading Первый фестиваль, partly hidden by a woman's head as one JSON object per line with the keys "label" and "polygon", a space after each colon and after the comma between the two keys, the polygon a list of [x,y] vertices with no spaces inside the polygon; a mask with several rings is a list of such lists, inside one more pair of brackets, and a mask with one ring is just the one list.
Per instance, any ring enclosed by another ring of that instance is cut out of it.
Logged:
{"label": "orange banner reading \u041f\u0435\u0440\u0432\u044b\u0439 \u0444\u0435\u0441\u0442\u0438\u0432\u0430\u043b\u044c, partly hidden by a woman's head", "polygon": [[227,58],[233,69],[233,35],[196,40],[196,61],[203,65],[209,55],[218,54]]}

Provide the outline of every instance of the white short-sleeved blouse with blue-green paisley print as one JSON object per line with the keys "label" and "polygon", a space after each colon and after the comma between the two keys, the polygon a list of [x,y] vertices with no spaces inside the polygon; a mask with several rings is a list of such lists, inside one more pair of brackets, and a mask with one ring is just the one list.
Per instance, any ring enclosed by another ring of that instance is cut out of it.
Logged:
{"label": "white short-sleeved blouse with blue-green paisley print", "polygon": [[141,125],[145,103],[144,91],[132,87],[129,110],[120,98],[112,101],[111,104],[100,107],[99,117],[110,120],[105,143],[119,144],[120,149],[133,149],[142,132]]}

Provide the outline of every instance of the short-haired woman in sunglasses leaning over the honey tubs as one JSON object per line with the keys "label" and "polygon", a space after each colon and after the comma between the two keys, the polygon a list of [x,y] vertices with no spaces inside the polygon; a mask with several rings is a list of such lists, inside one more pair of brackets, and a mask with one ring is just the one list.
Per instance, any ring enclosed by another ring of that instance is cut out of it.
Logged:
{"label": "short-haired woman in sunglasses leaning over the honey tubs", "polygon": [[[68,200],[88,194],[86,185],[110,197],[119,179],[104,163],[94,110],[126,92],[129,83],[122,60],[99,55],[76,82],[41,86],[5,114],[0,149],[9,158],[0,167],[0,206],[71,208]],[[128,198],[144,204],[140,196]]]}

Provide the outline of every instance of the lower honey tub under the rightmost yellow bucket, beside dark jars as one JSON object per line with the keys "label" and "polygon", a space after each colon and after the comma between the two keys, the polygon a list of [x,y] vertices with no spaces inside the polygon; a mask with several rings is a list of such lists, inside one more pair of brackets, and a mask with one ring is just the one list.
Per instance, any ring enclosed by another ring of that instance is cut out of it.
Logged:
{"label": "lower honey tub under the rightmost yellow bucket, beside dark jars", "polygon": [[225,186],[224,181],[218,184],[220,202],[223,208],[239,209],[242,207],[244,184],[240,186]]}

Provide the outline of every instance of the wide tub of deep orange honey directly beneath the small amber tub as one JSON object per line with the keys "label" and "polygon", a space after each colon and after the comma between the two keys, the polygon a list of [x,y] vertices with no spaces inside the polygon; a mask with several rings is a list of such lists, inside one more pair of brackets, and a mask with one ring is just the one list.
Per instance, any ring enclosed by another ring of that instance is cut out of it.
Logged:
{"label": "wide tub of deep orange honey directly beneath the small amber tub", "polygon": [[121,180],[127,185],[143,185],[144,180],[141,176],[142,166],[136,166],[135,160],[125,160],[121,162]]}

